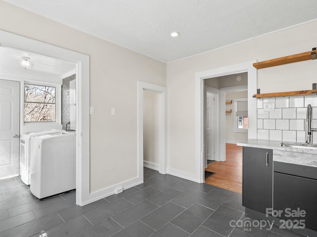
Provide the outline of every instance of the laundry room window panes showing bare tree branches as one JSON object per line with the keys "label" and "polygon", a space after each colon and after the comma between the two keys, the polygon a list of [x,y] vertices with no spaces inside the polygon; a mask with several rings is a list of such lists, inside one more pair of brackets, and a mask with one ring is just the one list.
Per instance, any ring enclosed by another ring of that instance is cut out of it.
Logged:
{"label": "laundry room window panes showing bare tree branches", "polygon": [[55,121],[55,87],[24,84],[24,122]]}

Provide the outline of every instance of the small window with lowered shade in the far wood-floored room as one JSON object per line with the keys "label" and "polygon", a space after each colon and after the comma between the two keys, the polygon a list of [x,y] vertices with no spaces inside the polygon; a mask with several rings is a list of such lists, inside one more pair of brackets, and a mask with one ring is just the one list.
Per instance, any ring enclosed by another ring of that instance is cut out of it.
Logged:
{"label": "small window with lowered shade in the far wood-floored room", "polygon": [[248,132],[248,99],[234,99],[234,131]]}

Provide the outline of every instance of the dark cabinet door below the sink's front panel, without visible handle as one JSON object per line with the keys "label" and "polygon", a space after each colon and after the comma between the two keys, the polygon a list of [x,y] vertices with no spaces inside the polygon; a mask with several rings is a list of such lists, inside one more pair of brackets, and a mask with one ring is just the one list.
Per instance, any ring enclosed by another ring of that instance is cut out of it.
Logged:
{"label": "dark cabinet door below the sink's front panel, without visible handle", "polygon": [[[317,180],[274,172],[274,210],[282,210],[281,219],[305,220],[305,226],[317,230]],[[285,212],[286,208],[290,208]],[[290,211],[306,211],[306,216],[289,216]],[[285,216],[285,214],[287,216]],[[294,222],[298,223],[297,221]]]}

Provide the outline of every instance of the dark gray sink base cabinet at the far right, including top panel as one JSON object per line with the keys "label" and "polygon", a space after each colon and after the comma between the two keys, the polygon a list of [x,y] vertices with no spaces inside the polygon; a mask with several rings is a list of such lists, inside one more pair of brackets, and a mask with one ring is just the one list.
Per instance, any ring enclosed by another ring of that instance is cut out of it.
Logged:
{"label": "dark gray sink base cabinet at the far right, including top panel", "polygon": [[292,225],[305,220],[307,228],[317,230],[317,168],[274,162],[273,207],[280,211],[279,218],[293,221]]}

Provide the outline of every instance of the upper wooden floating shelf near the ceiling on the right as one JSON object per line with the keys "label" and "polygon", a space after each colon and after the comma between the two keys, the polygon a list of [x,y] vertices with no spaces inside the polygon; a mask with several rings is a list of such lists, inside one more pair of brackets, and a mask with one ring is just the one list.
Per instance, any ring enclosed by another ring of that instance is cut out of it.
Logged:
{"label": "upper wooden floating shelf near the ceiling on the right", "polygon": [[256,69],[262,69],[262,68],[274,67],[274,66],[279,66],[279,65],[288,64],[288,63],[296,63],[296,62],[316,59],[316,53],[317,53],[317,50],[312,50],[305,53],[298,53],[298,54],[289,55],[289,56],[285,56],[281,58],[270,59],[270,60],[254,63],[253,67],[255,67]]}

